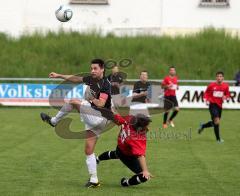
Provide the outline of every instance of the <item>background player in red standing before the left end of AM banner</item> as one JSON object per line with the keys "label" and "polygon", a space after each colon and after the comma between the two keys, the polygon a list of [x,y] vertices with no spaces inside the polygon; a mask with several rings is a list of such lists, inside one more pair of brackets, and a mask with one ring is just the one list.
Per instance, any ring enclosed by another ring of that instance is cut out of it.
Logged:
{"label": "background player in red standing before the left end of AM banner", "polygon": [[[164,89],[164,115],[163,128],[167,128],[167,123],[174,127],[173,119],[179,112],[176,90],[178,89],[178,78],[176,76],[175,67],[169,68],[169,75],[163,79],[162,88]],[[173,109],[173,113],[168,119],[169,111]]]}

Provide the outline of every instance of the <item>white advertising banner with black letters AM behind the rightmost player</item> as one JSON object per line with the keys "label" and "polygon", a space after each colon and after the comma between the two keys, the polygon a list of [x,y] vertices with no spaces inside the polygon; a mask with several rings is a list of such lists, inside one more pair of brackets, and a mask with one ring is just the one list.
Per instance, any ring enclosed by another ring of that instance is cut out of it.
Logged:
{"label": "white advertising banner with black letters AM behind the rightmost player", "polygon": [[[207,108],[203,100],[206,86],[179,86],[177,99],[180,108]],[[223,108],[240,109],[240,87],[230,87],[231,98],[223,103]]]}

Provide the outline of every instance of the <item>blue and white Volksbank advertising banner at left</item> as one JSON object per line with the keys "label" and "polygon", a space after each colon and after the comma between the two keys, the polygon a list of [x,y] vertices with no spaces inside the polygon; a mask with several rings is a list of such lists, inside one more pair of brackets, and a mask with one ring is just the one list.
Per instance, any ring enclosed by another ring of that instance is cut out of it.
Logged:
{"label": "blue and white Volksbank advertising banner at left", "polygon": [[49,106],[51,101],[83,98],[84,85],[71,84],[0,84],[0,104]]}

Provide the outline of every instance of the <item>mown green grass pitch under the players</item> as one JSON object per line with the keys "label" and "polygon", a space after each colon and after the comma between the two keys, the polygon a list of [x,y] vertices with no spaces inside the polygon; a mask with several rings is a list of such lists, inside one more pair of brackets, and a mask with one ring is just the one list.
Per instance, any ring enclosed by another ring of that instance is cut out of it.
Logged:
{"label": "mown green grass pitch under the players", "polygon": [[[42,123],[49,108],[0,108],[0,195],[240,195],[240,121],[238,110],[223,113],[217,144],[213,130],[196,133],[207,110],[182,110],[176,128],[148,142],[149,170],[155,176],[136,187],[122,188],[119,180],[132,173],[120,161],[100,163],[101,187],[86,189],[88,179],[83,140],[64,140]],[[81,130],[78,116],[73,129]],[[152,132],[161,132],[162,116],[155,115]],[[168,137],[167,137],[168,133]],[[178,138],[172,137],[178,133]],[[101,136],[96,154],[116,146],[116,128]],[[188,137],[185,137],[185,136]],[[165,137],[166,136],[166,137]]]}

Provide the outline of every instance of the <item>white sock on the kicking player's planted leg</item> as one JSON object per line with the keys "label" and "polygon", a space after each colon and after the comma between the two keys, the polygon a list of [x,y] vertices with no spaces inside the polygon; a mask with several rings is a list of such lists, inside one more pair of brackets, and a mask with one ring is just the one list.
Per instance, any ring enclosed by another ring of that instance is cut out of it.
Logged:
{"label": "white sock on the kicking player's planted leg", "polygon": [[97,163],[95,154],[87,155],[86,164],[88,168],[88,173],[90,174],[90,182],[98,183],[97,177]]}

